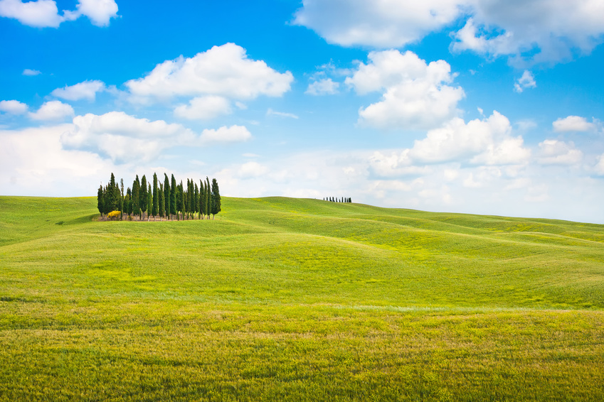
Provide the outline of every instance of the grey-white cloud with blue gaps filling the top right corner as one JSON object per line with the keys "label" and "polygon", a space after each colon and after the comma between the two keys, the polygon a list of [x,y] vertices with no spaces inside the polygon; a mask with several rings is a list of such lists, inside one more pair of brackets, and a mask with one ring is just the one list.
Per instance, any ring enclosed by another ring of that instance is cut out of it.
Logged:
{"label": "grey-white cloud with blue gaps filling the top right corner", "polygon": [[604,4],[599,0],[478,0],[471,8],[472,18],[457,32],[453,48],[510,55],[512,63],[568,60],[576,49],[590,52],[604,33]]}

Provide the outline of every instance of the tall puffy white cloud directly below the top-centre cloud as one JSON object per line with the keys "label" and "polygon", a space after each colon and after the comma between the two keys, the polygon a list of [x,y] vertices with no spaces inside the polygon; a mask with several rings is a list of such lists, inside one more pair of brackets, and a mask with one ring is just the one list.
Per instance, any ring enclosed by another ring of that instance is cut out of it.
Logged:
{"label": "tall puffy white cloud directly below the top-centre cloud", "polygon": [[453,75],[444,60],[426,64],[413,52],[398,50],[369,53],[369,63],[359,63],[346,84],[358,94],[383,91],[380,102],[359,109],[359,124],[379,129],[431,129],[458,113],[465,94],[451,87]]}

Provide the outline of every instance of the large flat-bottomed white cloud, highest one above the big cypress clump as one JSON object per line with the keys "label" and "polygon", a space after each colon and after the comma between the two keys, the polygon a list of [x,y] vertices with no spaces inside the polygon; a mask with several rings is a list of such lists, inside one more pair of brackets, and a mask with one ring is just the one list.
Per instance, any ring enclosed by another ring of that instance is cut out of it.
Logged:
{"label": "large flat-bottomed white cloud, highest one above the big cypress clump", "polygon": [[146,77],[126,82],[134,100],[149,97],[218,95],[255,99],[260,95],[280,97],[290,90],[291,72],[277,72],[262,60],[251,60],[234,43],[214,46],[193,58],[179,57],[157,65]]}

